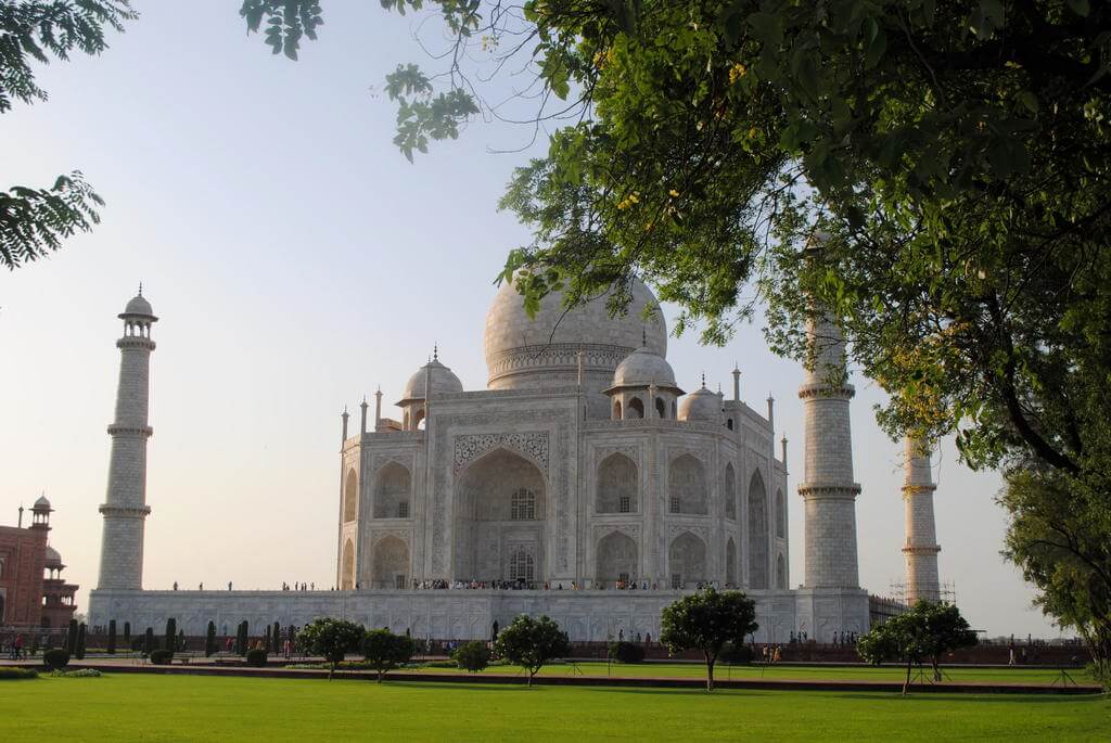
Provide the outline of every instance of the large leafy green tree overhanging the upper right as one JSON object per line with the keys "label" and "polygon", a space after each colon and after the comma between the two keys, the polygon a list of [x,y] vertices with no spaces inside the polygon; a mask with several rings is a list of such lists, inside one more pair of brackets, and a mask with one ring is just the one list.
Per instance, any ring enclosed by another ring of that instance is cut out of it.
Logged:
{"label": "large leafy green tree overhanging the upper right", "polygon": [[[408,157],[476,111],[554,130],[502,202],[533,232],[503,273],[527,307],[607,287],[620,304],[640,274],[707,341],[765,302],[773,348],[809,361],[818,302],[889,394],[892,435],[955,434],[972,466],[1040,472],[1059,498],[1111,508],[1111,6],[382,4],[432,9],[448,32],[440,67],[388,76]],[[320,23],[317,2],[243,13],[288,56]],[[534,74],[516,116],[482,88],[507,69]],[[1012,534],[1025,502],[1004,495]],[[1043,592],[1065,590],[1031,552],[1008,554]],[[1093,593],[1071,600],[1111,629]]]}

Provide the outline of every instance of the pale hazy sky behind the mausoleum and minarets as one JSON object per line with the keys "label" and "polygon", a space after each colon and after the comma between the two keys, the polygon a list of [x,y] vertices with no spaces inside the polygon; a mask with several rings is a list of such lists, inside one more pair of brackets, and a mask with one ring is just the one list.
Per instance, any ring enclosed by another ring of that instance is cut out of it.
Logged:
{"label": "pale hazy sky behind the mausoleum and minarets", "polygon": [[[299,62],[247,37],[238,2],[138,2],[142,17],[100,58],[42,69],[50,100],[0,118],[0,187],[82,170],[103,222],[48,260],[0,274],[0,523],[46,491],[51,544],[97,580],[121,322],[140,281],[152,337],[146,588],[274,588],[334,581],[340,419],[381,384],[386,402],[432,344],[482,389],[491,281],[527,233],[496,211],[530,132],[472,124],[410,164],[394,109],[373,89],[423,61],[417,19],[377,2],[329,3]],[[539,152],[540,149],[533,150]],[[667,310],[667,308],[665,308]],[[667,312],[673,315],[671,312]],[[724,349],[671,339],[680,384],[731,390],[763,410],[801,474],[801,370],[767,350],[759,323]],[[861,582],[901,580],[900,448],[875,426],[857,378],[853,433]],[[387,406],[384,415],[394,415]],[[777,434],[777,439],[779,438]],[[934,456],[943,581],[973,626],[1055,636],[999,556],[994,474]],[[790,501],[791,582],[802,579],[802,508]]]}

